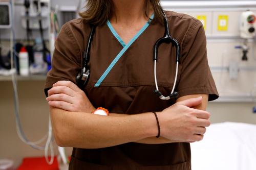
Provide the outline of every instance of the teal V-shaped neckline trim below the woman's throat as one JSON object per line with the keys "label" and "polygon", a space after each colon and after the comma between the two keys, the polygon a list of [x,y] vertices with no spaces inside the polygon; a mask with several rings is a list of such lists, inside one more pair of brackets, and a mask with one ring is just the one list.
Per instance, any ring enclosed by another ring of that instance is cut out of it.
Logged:
{"label": "teal V-shaped neckline trim below the woman's throat", "polygon": [[138,33],[127,44],[125,44],[122,38],[118,35],[118,33],[116,32],[114,27],[111,25],[111,22],[109,20],[106,22],[106,25],[108,25],[110,31],[116,37],[116,39],[120,42],[120,44],[123,47],[125,47],[125,45],[128,45],[128,44],[130,44],[130,46],[132,45],[132,43],[146,30],[146,28],[150,26],[150,22],[153,18],[154,18],[154,14],[151,15],[150,19],[145,23],[145,25],[138,31]]}

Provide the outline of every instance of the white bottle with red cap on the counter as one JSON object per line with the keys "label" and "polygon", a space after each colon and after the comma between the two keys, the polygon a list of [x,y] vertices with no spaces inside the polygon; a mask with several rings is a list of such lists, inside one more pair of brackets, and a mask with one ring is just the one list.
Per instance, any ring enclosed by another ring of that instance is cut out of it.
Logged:
{"label": "white bottle with red cap on the counter", "polygon": [[29,75],[29,54],[26,48],[23,46],[19,52],[19,74],[21,76]]}

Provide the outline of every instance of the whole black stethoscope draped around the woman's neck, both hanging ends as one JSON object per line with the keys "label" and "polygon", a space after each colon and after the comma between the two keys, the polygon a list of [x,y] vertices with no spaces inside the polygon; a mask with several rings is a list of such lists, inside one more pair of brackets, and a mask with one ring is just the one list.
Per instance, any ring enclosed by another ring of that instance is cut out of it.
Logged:
{"label": "whole black stethoscope draped around the woman's neck, both hanging ends", "polygon": [[[178,92],[175,91],[175,88],[176,88],[177,79],[178,79],[178,69],[179,69],[179,62],[180,62],[180,44],[176,39],[174,39],[170,36],[169,26],[168,26],[168,19],[167,19],[166,14],[164,13],[163,10],[162,10],[162,13],[164,15],[165,32],[164,32],[164,36],[162,38],[158,39],[157,42],[154,45],[153,61],[154,61],[154,77],[155,77],[155,84],[156,84],[156,90],[154,91],[154,93],[161,100],[169,100],[169,99],[173,99],[173,98],[178,97]],[[95,32],[95,26],[92,26],[91,32],[89,34],[89,39],[88,39],[86,50],[83,52],[82,69],[76,75],[76,83],[78,84],[78,86],[81,89],[84,86],[86,86],[86,84],[88,83],[89,78],[90,78],[90,67],[88,66],[88,63],[90,61],[90,49],[91,49],[91,43],[92,43],[92,40],[93,40],[94,32]],[[170,43],[170,42],[173,45],[175,45],[175,47],[176,47],[176,73],[175,73],[175,80],[174,80],[174,85],[173,85],[172,92],[170,93],[169,96],[164,96],[159,91],[158,84],[157,84],[156,70],[157,70],[158,48],[162,43]]]}

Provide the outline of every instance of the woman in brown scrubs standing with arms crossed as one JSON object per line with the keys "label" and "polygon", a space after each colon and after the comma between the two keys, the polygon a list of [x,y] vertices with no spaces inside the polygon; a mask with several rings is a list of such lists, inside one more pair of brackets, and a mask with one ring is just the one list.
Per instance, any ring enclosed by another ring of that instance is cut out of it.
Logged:
{"label": "woman in brown scrubs standing with arms crossed", "polygon": [[[164,34],[159,2],[89,0],[82,17],[62,27],[45,91],[57,144],[74,148],[70,169],[191,168],[189,142],[203,139],[210,125],[207,101],[217,99],[218,92],[207,63],[201,22],[165,11],[169,31],[182,50],[179,96],[162,101],[153,93],[153,46]],[[96,26],[90,48],[91,76],[81,90],[76,74],[91,26]],[[172,44],[160,46],[157,77],[164,95],[173,87],[175,56]],[[109,116],[92,114],[98,107],[108,109]]]}

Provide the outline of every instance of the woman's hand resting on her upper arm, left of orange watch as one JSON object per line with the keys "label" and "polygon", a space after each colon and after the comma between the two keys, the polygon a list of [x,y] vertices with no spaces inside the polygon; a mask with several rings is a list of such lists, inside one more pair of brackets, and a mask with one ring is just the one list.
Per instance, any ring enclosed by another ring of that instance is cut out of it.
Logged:
{"label": "woman's hand resting on her upper arm, left of orange watch", "polygon": [[49,105],[71,112],[91,113],[95,110],[86,94],[71,81],[58,81],[48,90]]}

